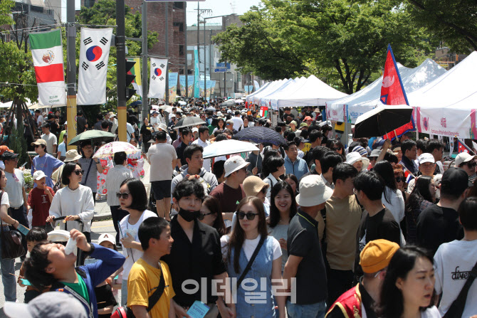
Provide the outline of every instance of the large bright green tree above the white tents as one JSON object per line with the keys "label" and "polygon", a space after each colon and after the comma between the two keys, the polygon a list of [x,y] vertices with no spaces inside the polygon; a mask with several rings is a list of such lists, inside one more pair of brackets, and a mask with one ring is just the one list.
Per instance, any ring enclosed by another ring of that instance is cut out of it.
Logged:
{"label": "large bright green tree above the white tents", "polygon": [[267,80],[313,73],[347,93],[384,65],[388,43],[409,67],[431,48],[394,0],[263,0],[241,21],[215,37],[223,60]]}

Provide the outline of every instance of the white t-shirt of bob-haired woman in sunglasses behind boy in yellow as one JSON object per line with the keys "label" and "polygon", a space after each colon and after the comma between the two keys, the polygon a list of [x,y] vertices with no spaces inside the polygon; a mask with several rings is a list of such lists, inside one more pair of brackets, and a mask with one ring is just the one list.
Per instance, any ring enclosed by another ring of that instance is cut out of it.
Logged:
{"label": "white t-shirt of bob-haired woman in sunglasses behind boy in yellow", "polygon": [[[123,238],[122,235],[127,235],[126,233],[130,233],[130,235],[134,238],[136,242],[139,242],[139,238],[137,237],[137,232],[139,230],[139,227],[146,218],[157,218],[157,214],[154,212],[151,212],[149,210],[145,210],[142,212],[141,217],[139,220],[136,222],[136,224],[131,225],[129,223],[129,216],[125,216],[122,218],[120,222],[120,238]],[[129,276],[129,272],[131,270],[132,265],[142,258],[142,252],[140,250],[136,250],[135,248],[122,248],[122,254],[125,255],[126,261],[124,265],[122,265],[123,271],[122,271],[122,279],[127,280],[127,277]]]}

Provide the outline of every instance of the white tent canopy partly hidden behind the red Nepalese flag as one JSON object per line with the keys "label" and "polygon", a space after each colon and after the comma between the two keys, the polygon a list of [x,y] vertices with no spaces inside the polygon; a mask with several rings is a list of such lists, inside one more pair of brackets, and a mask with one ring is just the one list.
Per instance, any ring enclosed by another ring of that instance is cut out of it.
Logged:
{"label": "white tent canopy partly hidden behind the red Nepalese flag", "polygon": [[[401,75],[404,90],[407,93],[409,103],[409,93],[422,88],[431,83],[431,81],[439,78],[446,70],[441,68],[434,60],[427,59],[416,68],[406,68],[397,63],[399,73]],[[354,124],[357,117],[374,109],[378,105],[382,105],[379,100],[381,96],[382,76],[368,85],[366,88],[355,92],[352,95],[333,100],[326,103],[327,120],[336,120],[338,122],[351,122]]]}

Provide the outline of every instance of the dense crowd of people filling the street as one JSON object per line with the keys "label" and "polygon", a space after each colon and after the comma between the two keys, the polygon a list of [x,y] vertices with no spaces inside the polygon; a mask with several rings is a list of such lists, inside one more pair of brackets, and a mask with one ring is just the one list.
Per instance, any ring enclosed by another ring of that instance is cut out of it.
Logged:
{"label": "dense crowd of people filling the street", "polygon": [[[103,171],[95,145],[65,152],[63,162],[49,154],[48,139],[34,141],[28,198],[18,154],[6,150],[1,221],[28,227],[26,211],[33,213],[18,280],[10,275],[15,260],[1,259],[6,300],[15,302],[26,278],[28,308],[61,291],[87,317],[120,317],[117,306],[135,317],[477,314],[477,285],[460,295],[477,274],[476,156],[462,152],[449,164],[446,144],[409,132],[392,142],[343,142],[313,107],[285,108],[271,127],[255,110],[215,106],[159,109],[139,135],[130,124],[130,142],[145,144],[151,195],[127,169],[125,152],[115,153],[105,187],[116,233],[97,244],[98,188],[85,180]],[[190,116],[205,124],[175,128]],[[98,116],[95,127],[113,128],[105,122]],[[203,158],[206,147],[248,127],[274,129],[286,142]],[[84,265],[47,240],[61,216]],[[25,306],[9,304],[6,313]]]}

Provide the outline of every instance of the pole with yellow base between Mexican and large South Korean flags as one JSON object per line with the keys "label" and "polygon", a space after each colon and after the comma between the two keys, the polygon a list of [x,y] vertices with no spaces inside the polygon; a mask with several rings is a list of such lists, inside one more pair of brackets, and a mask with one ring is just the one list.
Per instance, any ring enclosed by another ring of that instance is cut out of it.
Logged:
{"label": "pole with yellow base between Mexican and large South Korean flags", "polygon": [[[124,9],[124,7],[123,7]],[[66,78],[68,96],[66,100],[66,120],[68,121],[68,140],[76,136],[76,15],[75,0],[68,0],[66,3],[66,45],[67,60]],[[21,119],[21,118],[20,118]],[[19,120],[20,121],[20,120]],[[68,146],[68,150],[76,149],[76,146]]]}

